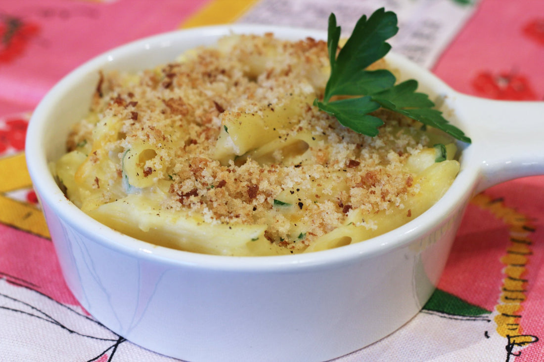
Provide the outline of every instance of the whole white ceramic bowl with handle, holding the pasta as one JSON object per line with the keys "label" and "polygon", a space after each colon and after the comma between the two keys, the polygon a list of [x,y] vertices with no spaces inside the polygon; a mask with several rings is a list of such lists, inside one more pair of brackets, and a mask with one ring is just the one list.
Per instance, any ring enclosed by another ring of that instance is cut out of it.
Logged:
{"label": "whole white ceramic bowl with handle, holding the pasta", "polygon": [[544,173],[542,102],[460,95],[403,57],[403,78],[443,99],[473,140],[447,194],[403,227],[355,245],[304,255],[221,257],[157,247],[91,219],[55,184],[47,164],[65,152],[70,125],[88,111],[98,70],[139,70],[230,32],[286,39],[302,29],[220,26],[130,43],[77,68],[34,111],[27,163],[73,295],[98,321],[152,351],[189,361],[322,361],[369,345],[410,320],[440,277],[475,192]]}

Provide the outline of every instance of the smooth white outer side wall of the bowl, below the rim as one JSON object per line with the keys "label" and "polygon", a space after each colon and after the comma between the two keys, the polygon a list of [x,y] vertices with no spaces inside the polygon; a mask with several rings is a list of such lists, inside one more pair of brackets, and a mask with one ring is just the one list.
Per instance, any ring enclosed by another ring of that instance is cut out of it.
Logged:
{"label": "smooth white outer side wall of the bowl, below the rim", "polygon": [[[78,301],[141,346],[190,361],[317,361],[371,344],[422,308],[460,217],[379,257],[253,273],[128,255],[63,221],[51,233]],[[289,342],[271,354],[279,338]]]}

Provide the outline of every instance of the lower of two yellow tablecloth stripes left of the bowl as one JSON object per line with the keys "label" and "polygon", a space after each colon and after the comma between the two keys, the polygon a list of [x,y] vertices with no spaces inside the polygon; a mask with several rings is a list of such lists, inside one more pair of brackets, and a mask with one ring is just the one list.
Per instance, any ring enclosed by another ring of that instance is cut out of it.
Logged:
{"label": "lower of two yellow tablecloth stripes left of the bowl", "polygon": [[40,209],[5,196],[0,196],[0,223],[51,238]]}

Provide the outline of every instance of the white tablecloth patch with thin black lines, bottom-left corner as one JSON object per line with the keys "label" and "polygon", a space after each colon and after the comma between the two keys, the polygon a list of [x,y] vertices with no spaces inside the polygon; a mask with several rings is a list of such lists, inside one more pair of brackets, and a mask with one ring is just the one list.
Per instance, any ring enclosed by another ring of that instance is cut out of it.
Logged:
{"label": "white tablecloth patch with thin black lines, bottom-left corner", "polygon": [[[112,332],[78,306],[55,301],[28,280],[0,271],[0,346],[10,361],[115,362],[134,356],[176,361]],[[24,348],[22,348],[24,347]]]}

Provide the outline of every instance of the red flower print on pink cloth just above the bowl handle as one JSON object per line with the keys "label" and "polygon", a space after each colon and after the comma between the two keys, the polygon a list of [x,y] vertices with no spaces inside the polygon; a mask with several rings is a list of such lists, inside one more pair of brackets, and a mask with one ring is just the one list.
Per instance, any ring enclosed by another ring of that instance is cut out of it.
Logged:
{"label": "red flower print on pink cloth just above the bowl handle", "polygon": [[492,74],[480,72],[473,80],[472,86],[481,96],[493,99],[509,99],[511,101],[534,101],[535,92],[529,80],[514,72]]}

